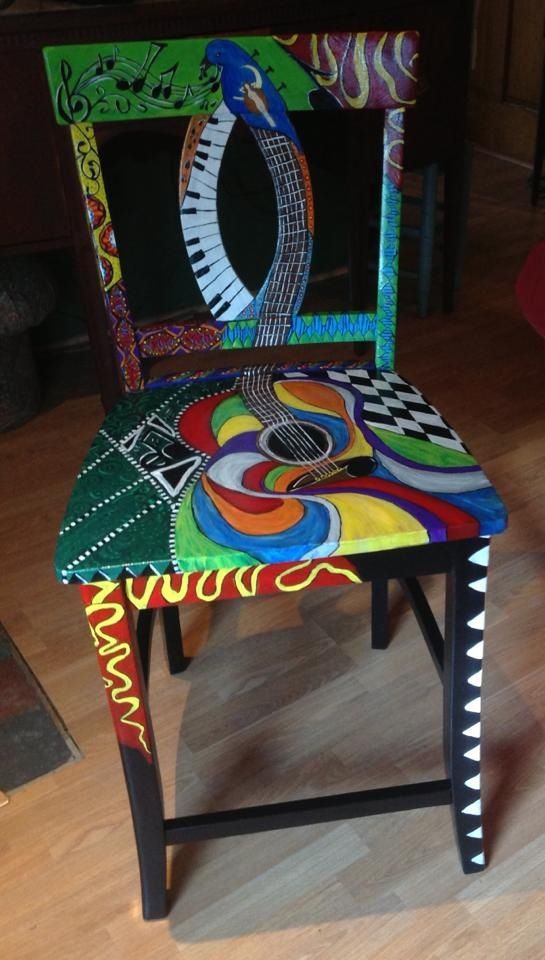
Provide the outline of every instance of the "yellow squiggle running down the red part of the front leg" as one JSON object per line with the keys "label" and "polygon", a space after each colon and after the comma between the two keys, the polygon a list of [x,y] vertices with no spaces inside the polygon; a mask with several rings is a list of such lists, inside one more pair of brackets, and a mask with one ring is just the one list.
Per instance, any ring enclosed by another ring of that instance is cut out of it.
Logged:
{"label": "yellow squiggle running down the red part of the front leg", "polygon": [[[110,587],[108,593],[111,594],[112,591],[116,588],[116,584],[106,584],[106,587]],[[104,595],[106,591],[102,590]],[[103,618],[100,620],[100,623],[97,623],[96,626],[92,624],[90,616],[91,614],[100,611],[101,614],[105,614],[106,611],[110,609],[111,616],[109,618]],[[138,740],[142,744],[146,753],[151,756],[151,750],[148,746],[145,737],[145,727],[142,723],[137,720],[131,720],[130,717],[136,713],[141,708],[141,702],[139,697],[127,697],[124,694],[127,693],[132,687],[132,680],[127,674],[122,673],[120,670],[116,669],[117,664],[126,660],[130,654],[130,646],[126,641],[120,641],[117,637],[108,636],[105,632],[109,627],[114,626],[123,619],[125,611],[122,604],[120,603],[91,603],[85,608],[85,612],[88,617],[89,625],[91,628],[91,634],[94,639],[95,647],[97,648],[98,653],[101,657],[106,660],[106,671],[110,674],[113,674],[115,678],[121,681],[123,684],[122,687],[115,687],[115,681],[109,677],[104,678],[104,685],[108,690],[114,703],[118,705],[127,704],[127,711],[121,716],[121,723],[126,724],[129,727],[134,727],[138,730]],[[102,646],[101,646],[102,643]],[[117,656],[116,656],[117,654]]]}

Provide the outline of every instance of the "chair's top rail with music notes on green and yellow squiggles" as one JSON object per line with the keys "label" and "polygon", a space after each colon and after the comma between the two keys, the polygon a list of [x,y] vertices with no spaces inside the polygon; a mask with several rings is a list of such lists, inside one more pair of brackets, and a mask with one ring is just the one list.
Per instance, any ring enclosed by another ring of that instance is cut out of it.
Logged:
{"label": "chair's top rail with music notes on green and yellow squiggles", "polygon": [[[380,109],[414,104],[416,31],[86,43],[46,47],[59,123],[213,113],[236,77],[250,117],[274,86],[285,108]],[[267,82],[268,81],[268,82]],[[222,89],[223,87],[223,89]],[[327,93],[329,97],[321,96]]]}

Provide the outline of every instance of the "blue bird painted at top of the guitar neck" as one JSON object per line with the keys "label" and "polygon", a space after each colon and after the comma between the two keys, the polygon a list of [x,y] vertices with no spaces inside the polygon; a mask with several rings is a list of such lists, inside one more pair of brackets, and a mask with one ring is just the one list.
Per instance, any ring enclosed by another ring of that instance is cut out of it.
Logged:
{"label": "blue bird painted at top of the guitar neck", "polygon": [[257,130],[283,133],[301,149],[286,105],[259,64],[232,40],[211,40],[208,64],[221,67],[221,89],[228,109]]}

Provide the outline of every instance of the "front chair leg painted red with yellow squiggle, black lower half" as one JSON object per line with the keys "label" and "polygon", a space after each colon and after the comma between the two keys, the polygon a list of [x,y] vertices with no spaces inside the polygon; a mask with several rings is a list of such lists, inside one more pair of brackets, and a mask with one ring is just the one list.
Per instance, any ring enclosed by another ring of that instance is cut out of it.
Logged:
{"label": "front chair leg painted red with yellow squiggle, black lower half", "polygon": [[80,588],[117,735],[140,865],[142,913],[168,912],[163,801],[132,612],[119,583]]}

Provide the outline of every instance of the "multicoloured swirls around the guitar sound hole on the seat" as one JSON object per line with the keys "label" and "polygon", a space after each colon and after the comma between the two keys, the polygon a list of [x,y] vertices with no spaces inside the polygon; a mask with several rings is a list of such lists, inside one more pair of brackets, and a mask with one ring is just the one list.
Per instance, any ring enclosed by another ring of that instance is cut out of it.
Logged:
{"label": "multicoloured swirls around the guitar sound hole on the seat", "polygon": [[[361,389],[348,377],[337,383],[332,376],[282,374],[272,384],[289,418],[327,438],[328,464],[338,468],[301,488],[309,464],[274,455],[270,427],[245,402],[236,380],[184,411],[181,439],[207,462],[178,509],[183,569],[188,545],[198,558],[195,568],[217,569],[274,563],[286,555],[346,555],[362,542],[378,550],[392,538],[407,545],[445,540],[451,526],[477,528],[465,510],[466,492],[488,483],[474,459],[427,440],[402,444],[407,438],[370,426]],[[349,475],[350,463],[358,475]]]}

